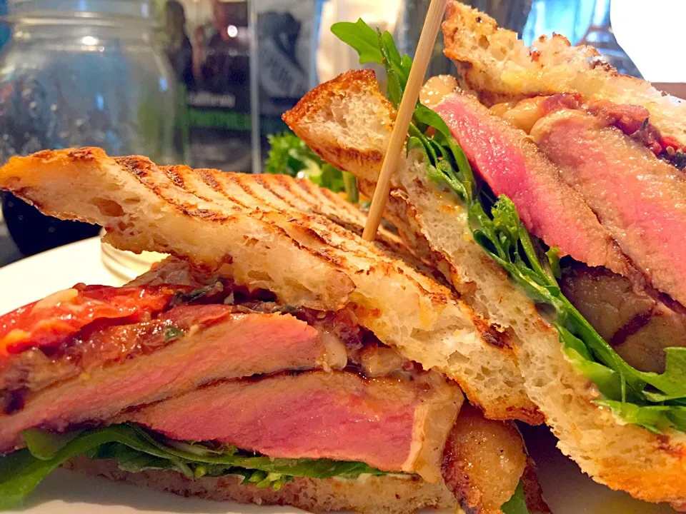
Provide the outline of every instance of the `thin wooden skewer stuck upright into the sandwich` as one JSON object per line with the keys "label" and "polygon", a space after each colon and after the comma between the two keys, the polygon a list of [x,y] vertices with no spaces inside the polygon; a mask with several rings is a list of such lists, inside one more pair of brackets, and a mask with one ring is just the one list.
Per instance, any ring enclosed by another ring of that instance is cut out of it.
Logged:
{"label": "thin wooden skewer stuck upright into the sandwich", "polygon": [[381,173],[379,173],[377,188],[374,190],[374,198],[372,198],[372,206],[369,208],[367,224],[364,226],[364,232],[362,233],[362,238],[367,241],[374,241],[374,238],[377,236],[379,223],[381,223],[384,207],[386,206],[386,200],[391,188],[391,175],[398,167],[402,143],[405,141],[409,123],[412,121],[414,105],[417,104],[419,89],[421,89],[424,82],[424,74],[427,73],[427,66],[429,66],[429,59],[436,43],[436,36],[441,26],[446,4],[447,0],[431,0],[429,5],[427,19],[424,20],[422,34],[419,36],[417,52],[414,54],[412,69],[410,69],[409,77],[407,78],[407,86],[405,86],[405,91],[398,108],[391,140],[386,149]]}

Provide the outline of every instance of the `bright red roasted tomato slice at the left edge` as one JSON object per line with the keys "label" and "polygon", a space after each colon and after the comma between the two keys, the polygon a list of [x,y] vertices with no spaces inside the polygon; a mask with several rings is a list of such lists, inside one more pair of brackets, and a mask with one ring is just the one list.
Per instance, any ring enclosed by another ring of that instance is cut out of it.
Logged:
{"label": "bright red roasted tomato slice at the left edge", "polygon": [[56,348],[94,321],[137,323],[164,310],[188,286],[85,286],[58,291],[0,316],[0,358],[28,348]]}

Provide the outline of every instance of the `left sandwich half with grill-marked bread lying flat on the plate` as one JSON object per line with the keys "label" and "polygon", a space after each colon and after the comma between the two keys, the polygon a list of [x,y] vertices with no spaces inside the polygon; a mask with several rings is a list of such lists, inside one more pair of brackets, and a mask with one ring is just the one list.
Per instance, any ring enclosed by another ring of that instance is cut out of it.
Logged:
{"label": "left sandwich half with grill-marked bread lying flat on the plate", "polygon": [[66,465],[316,512],[547,512],[502,420],[542,420],[512,335],[397,236],[363,241],[352,204],[98,148],[12,158],[0,186],[172,254],[0,318],[1,506]]}

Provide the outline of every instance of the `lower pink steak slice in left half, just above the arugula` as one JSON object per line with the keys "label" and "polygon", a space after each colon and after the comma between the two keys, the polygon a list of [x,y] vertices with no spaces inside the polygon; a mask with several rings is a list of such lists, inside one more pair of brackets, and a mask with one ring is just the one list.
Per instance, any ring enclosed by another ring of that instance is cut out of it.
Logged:
{"label": "lower pink steak slice in left half, just above the arugula", "polygon": [[214,440],[278,458],[362,461],[440,480],[462,404],[434,373],[414,380],[312,371],[209,385],[124,414],[179,440]]}

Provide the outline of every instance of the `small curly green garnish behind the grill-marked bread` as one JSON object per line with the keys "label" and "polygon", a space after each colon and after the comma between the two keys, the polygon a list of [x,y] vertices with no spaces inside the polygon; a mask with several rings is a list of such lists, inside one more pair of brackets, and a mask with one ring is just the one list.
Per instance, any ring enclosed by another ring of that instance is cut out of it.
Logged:
{"label": "small curly green garnish behind the grill-marked bread", "polygon": [[317,186],[331,189],[334,193],[345,191],[351,203],[359,201],[354,175],[322,161],[322,158],[294,133],[272,134],[267,138],[272,148],[269,149],[269,158],[264,168],[266,173],[284,173],[307,178]]}

